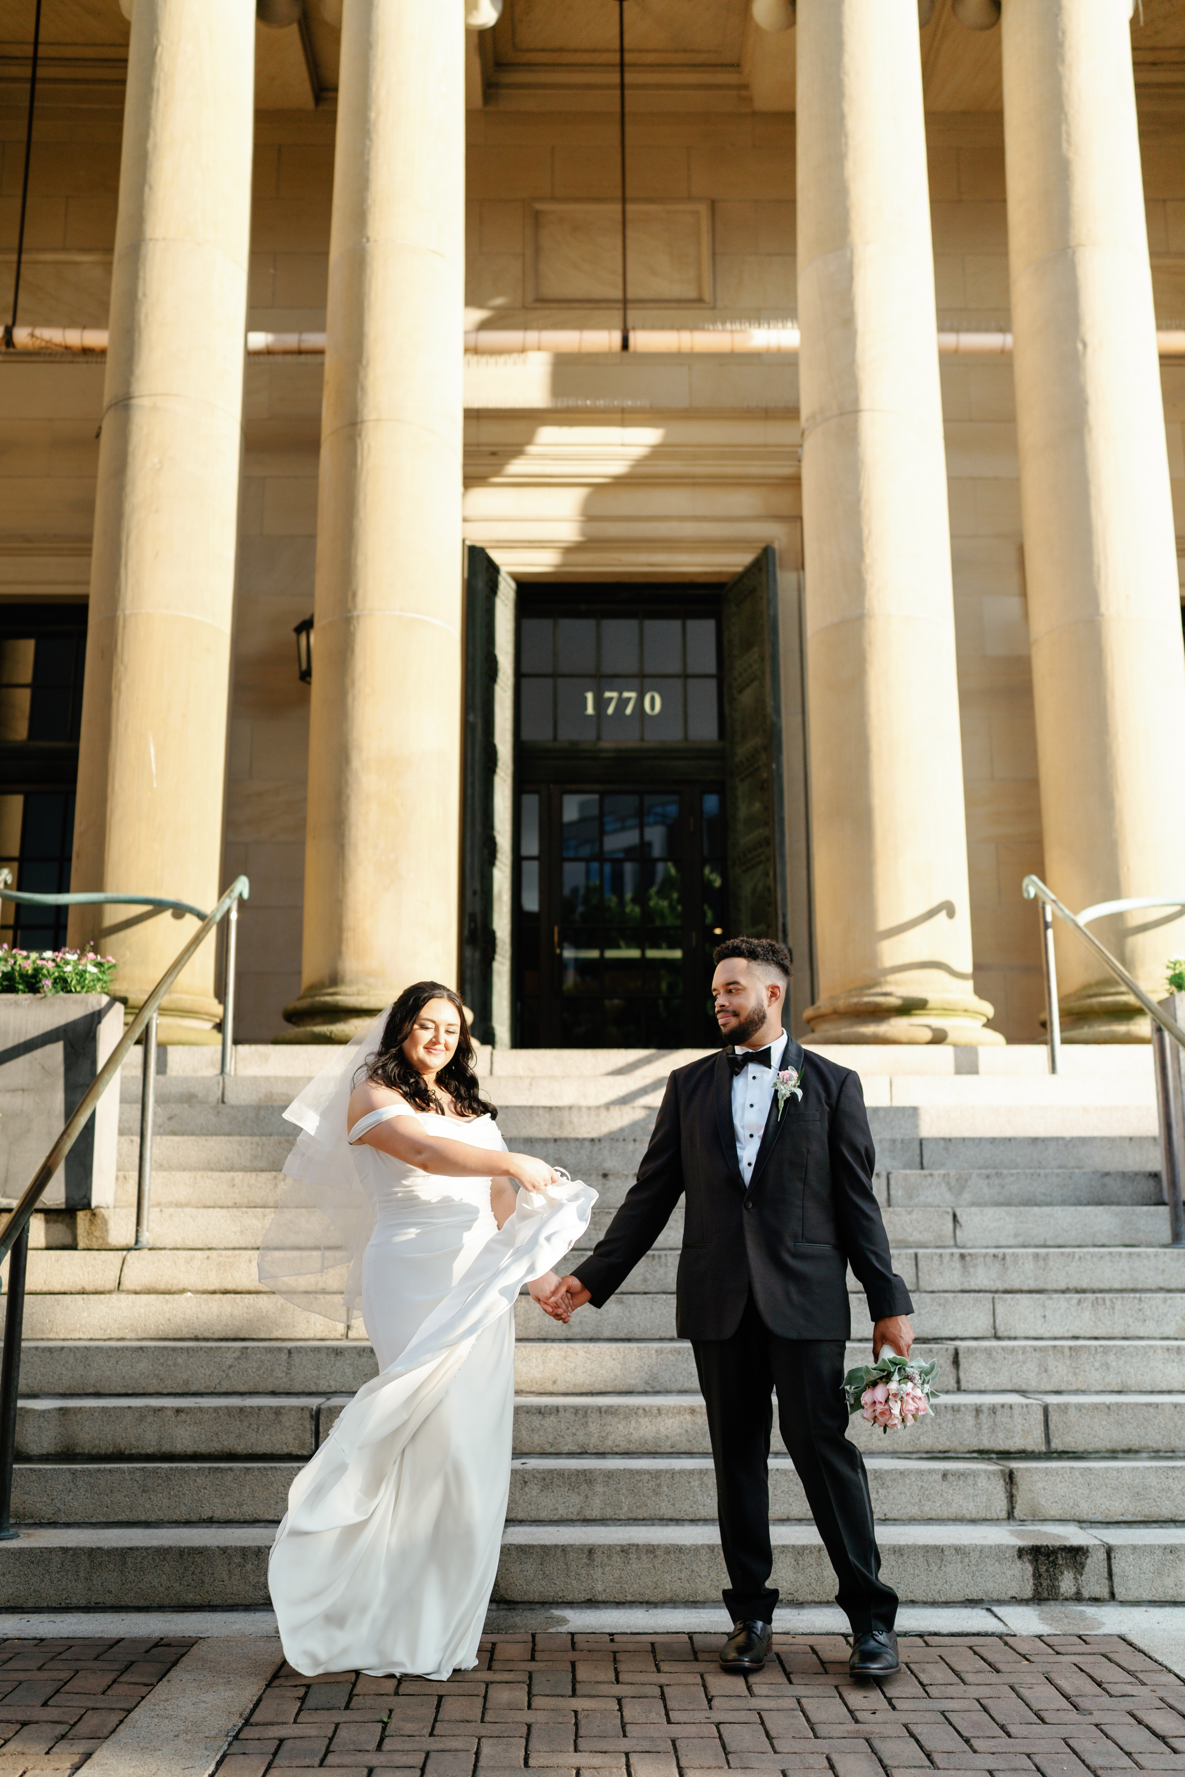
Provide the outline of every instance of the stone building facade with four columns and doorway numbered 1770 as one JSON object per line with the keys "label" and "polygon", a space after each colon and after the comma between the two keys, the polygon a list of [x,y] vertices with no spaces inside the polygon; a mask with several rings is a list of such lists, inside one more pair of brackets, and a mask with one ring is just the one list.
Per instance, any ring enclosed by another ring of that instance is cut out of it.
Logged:
{"label": "stone building facade with four columns and doorway numbered 1770", "polygon": [[[1185,896],[1181,9],[258,12],[44,18],[18,883],[245,873],[254,1041],[439,976],[499,1043],[695,1045],[741,926],[792,942],[801,1034],[1038,1040],[1027,873]],[[0,0],[5,267],[32,14]],[[1100,933],[1158,988],[1183,924]],[[181,928],[69,931],[135,1004]],[[1142,1038],[1059,947],[1064,1032]],[[219,997],[208,951],[162,1036]]]}

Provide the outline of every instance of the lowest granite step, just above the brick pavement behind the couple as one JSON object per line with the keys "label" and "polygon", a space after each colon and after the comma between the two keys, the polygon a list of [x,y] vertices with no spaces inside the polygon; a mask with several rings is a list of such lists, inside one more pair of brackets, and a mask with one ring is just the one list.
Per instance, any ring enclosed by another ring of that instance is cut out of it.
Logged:
{"label": "lowest granite step, just above the brick pavement behind the couple", "polygon": [[[0,1558],[0,1608],[238,1608],[266,1605],[274,1525],[30,1526]],[[831,1598],[814,1525],[775,1523],[773,1582],[785,1603]],[[879,1525],[883,1574],[904,1603],[1174,1601],[1185,1528],[1155,1525]],[[497,1603],[716,1603],[718,1532],[684,1525],[506,1525]]]}

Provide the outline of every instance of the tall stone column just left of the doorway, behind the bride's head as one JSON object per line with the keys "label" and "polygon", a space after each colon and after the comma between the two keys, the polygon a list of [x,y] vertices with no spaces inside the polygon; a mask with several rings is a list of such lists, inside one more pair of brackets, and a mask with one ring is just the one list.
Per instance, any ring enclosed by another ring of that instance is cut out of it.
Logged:
{"label": "tall stone column just left of the doorway, behind the bride's head", "polygon": [[343,7],[290,1041],[457,976],[464,28],[460,0]]}

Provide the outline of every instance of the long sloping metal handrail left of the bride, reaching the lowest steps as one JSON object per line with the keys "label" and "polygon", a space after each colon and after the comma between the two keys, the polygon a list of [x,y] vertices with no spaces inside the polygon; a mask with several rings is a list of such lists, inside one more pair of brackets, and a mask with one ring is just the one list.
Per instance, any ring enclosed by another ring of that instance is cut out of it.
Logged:
{"label": "long sloping metal handrail left of the bride, reaching the lowest steps", "polygon": [[[119,1070],[124,1059],[135,1047],[135,1040],[140,1031],[147,1031],[153,1025],[153,1036],[156,1031],[156,1011],[165,993],[178,979],[185,965],[210,936],[219,920],[227,913],[236,913],[240,897],[245,901],[251,894],[251,883],[245,876],[236,876],[231,887],[226,890],[219,904],[204,915],[197,931],[188,938],[188,942],[178,951],[174,960],[165,968],[163,976],[151,990],[135,1018],[124,1031],[124,1034],[115,1043],[114,1050],[91,1080],[91,1086],[80,1098],[76,1109],[69,1116],[62,1134],[57,1137],[44,1160],[32,1176],[32,1182],[20,1203],[9,1215],[4,1230],[0,1231],[0,1263],[11,1253],[9,1262],[9,1290],[7,1290],[7,1308],[4,1319],[4,1354],[0,1356],[0,1541],[9,1541],[20,1532],[12,1530],[9,1518],[12,1509],[12,1462],[16,1457],[16,1395],[20,1386],[20,1368],[21,1368],[21,1329],[25,1319],[25,1271],[28,1265],[28,1221],[41,1201],[46,1185],[57,1173],[59,1166],[69,1153],[69,1150],[78,1141],[78,1136],[85,1128],[87,1121],[94,1114],[94,1109],[107,1091],[107,1088],[119,1077]],[[103,897],[107,899],[107,897]],[[131,896],[130,899],[137,899]],[[155,1045],[153,1045],[155,1048]],[[144,1063],[147,1066],[147,1043]],[[151,1105],[151,1084],[149,1075],[144,1079],[144,1091],[140,1095],[140,1132],[144,1132],[144,1100]],[[151,1109],[149,1109],[149,1141],[151,1141]],[[140,1205],[137,1203],[137,1224],[140,1223]],[[147,1203],[144,1205],[144,1231],[147,1231]],[[139,1226],[137,1226],[139,1233]],[[137,1242],[140,1244],[140,1242]]]}

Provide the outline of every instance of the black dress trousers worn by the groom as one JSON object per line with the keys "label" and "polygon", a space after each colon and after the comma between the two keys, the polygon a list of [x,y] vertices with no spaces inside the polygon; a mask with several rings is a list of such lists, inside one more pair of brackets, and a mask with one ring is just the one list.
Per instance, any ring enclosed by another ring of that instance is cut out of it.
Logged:
{"label": "black dress trousers worn by the groom", "polygon": [[750,1295],[732,1338],[693,1340],[691,1349],[707,1402],[732,1621],[773,1622],[778,1603],[767,1471],[776,1390],[778,1427],[839,1578],[835,1603],[855,1635],[892,1630],[897,1594],[879,1578],[869,1478],[844,1436],[844,1342],[778,1338]]}

